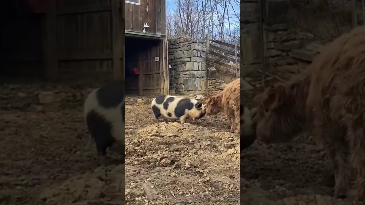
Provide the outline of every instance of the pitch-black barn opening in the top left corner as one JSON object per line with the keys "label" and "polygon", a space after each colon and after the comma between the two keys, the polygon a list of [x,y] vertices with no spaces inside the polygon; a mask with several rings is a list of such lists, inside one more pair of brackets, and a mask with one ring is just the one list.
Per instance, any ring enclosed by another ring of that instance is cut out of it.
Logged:
{"label": "pitch-black barn opening in the top left corner", "polygon": [[44,79],[45,5],[1,1],[1,78]]}

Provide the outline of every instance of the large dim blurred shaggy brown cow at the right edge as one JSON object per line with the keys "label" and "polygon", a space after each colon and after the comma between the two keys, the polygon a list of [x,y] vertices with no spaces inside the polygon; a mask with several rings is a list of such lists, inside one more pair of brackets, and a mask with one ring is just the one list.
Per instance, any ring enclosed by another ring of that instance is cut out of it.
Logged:
{"label": "large dim blurred shaggy brown cow at the right edge", "polygon": [[304,73],[267,89],[256,100],[258,138],[288,141],[309,123],[333,166],[335,196],[347,196],[350,152],[357,199],[364,199],[365,26],[334,40]]}

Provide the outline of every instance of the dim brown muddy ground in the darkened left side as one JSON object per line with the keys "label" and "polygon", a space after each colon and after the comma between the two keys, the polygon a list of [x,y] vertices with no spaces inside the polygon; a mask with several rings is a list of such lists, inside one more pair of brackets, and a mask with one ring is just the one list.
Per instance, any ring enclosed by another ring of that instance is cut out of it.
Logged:
{"label": "dim brown muddy ground in the darkened left side", "polygon": [[92,89],[0,85],[0,204],[124,202],[124,165],[98,167],[95,148],[85,148],[82,103]]}

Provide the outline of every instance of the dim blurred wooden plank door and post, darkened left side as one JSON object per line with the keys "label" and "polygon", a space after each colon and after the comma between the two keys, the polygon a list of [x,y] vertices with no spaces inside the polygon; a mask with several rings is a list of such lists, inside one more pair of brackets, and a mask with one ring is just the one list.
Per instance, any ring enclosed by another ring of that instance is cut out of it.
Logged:
{"label": "dim blurred wooden plank door and post, darkened left side", "polygon": [[[87,5],[82,3],[57,0],[55,5],[58,78],[115,78],[124,73],[122,15],[118,13],[121,1],[93,0],[88,1]],[[119,68],[114,67],[115,64]]]}

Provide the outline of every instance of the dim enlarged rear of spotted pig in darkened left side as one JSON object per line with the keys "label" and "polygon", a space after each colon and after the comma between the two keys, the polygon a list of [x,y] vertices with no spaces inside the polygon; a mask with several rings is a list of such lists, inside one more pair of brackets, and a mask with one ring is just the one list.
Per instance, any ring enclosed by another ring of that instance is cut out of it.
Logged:
{"label": "dim enlarged rear of spotted pig in darkened left side", "polygon": [[84,117],[96,144],[99,158],[105,160],[108,148],[116,148],[124,162],[124,81],[115,81],[93,90],[85,100]]}

